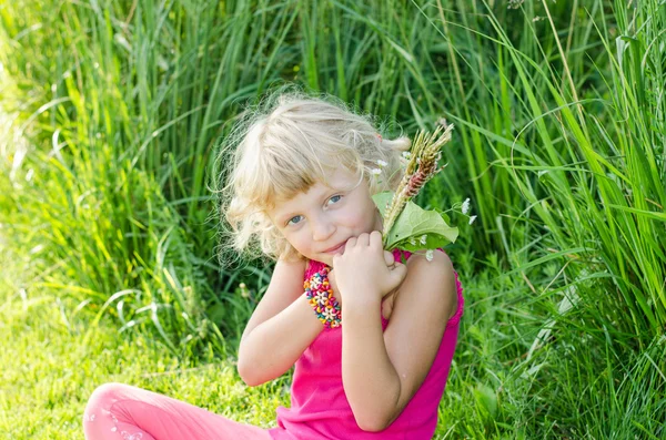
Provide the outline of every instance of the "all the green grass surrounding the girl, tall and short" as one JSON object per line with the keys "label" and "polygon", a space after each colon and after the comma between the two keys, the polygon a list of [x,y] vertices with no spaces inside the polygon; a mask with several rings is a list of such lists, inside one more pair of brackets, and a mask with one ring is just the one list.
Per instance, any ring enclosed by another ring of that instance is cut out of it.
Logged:
{"label": "all the green grass surrounding the girl, tall and short", "polygon": [[232,362],[271,266],[221,266],[210,188],[285,82],[386,135],[456,124],[420,198],[478,215],[451,213],[437,438],[664,438],[665,27],[658,0],[0,2],[0,438],[82,438],[109,380],[270,426],[287,380]]}

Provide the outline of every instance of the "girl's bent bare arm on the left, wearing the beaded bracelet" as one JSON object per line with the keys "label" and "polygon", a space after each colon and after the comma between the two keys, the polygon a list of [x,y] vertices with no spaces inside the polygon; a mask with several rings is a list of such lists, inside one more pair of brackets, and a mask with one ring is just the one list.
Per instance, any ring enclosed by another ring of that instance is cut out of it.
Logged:
{"label": "girl's bent bare arm on the left, wearing the beaded bracelet", "polygon": [[279,260],[241,337],[239,375],[251,387],[282,376],[322,331],[303,293],[305,262]]}

